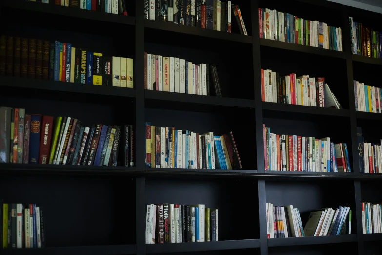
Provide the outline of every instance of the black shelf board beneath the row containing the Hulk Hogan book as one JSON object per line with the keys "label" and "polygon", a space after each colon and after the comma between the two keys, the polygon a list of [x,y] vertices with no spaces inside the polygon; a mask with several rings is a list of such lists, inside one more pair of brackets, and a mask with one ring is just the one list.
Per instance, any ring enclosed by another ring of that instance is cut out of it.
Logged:
{"label": "black shelf board beneath the row containing the Hulk Hogan book", "polygon": [[218,242],[146,244],[146,253],[201,252],[259,248],[259,239],[232,240]]}

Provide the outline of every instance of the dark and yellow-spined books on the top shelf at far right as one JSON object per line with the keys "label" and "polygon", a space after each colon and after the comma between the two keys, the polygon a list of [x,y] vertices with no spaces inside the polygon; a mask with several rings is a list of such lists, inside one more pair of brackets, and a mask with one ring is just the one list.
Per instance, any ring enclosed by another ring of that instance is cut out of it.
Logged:
{"label": "dark and yellow-spined books on the top shelf at far right", "polygon": [[382,33],[365,27],[349,17],[350,41],[353,54],[382,58]]}

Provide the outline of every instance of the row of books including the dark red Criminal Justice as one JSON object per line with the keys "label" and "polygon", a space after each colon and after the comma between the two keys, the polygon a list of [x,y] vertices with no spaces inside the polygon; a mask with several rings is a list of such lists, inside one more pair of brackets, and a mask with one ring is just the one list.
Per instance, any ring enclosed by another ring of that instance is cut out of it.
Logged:
{"label": "row of books including the dark red Criminal Justice", "polygon": [[9,107],[0,107],[0,124],[0,163],[134,166],[132,125],[86,127]]}

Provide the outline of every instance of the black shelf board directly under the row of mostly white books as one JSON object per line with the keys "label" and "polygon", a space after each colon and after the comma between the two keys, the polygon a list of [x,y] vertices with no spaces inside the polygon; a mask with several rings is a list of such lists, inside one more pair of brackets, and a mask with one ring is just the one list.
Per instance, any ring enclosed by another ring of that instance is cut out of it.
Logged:
{"label": "black shelf board directly under the row of mostly white books", "polygon": [[255,101],[250,99],[228,98],[228,97],[215,97],[215,96],[201,96],[192,94],[183,94],[175,92],[165,92],[156,90],[145,90],[145,99],[161,100],[169,102],[192,103],[210,106],[229,106],[241,108],[254,108]]}

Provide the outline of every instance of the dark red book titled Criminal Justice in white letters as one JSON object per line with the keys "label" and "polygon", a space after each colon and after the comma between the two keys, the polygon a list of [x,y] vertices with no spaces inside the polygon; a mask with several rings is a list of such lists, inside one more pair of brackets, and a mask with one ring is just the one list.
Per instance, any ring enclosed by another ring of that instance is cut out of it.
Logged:
{"label": "dark red book titled Criminal Justice in white letters", "polygon": [[42,116],[41,136],[40,136],[40,152],[39,164],[49,163],[50,140],[52,138],[53,117]]}

